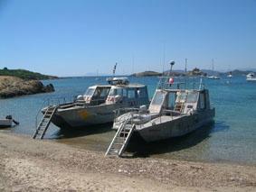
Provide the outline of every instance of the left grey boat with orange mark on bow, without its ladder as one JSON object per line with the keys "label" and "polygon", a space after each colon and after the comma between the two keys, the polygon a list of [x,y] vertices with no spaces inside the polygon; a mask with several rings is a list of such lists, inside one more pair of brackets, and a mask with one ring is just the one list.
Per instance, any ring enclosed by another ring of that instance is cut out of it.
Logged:
{"label": "left grey boat with orange mark on bow, without its ladder", "polygon": [[85,128],[113,122],[114,111],[119,108],[149,104],[147,86],[131,84],[128,78],[107,78],[107,81],[108,85],[88,87],[73,102],[49,105],[42,112],[51,116],[51,122],[60,128]]}

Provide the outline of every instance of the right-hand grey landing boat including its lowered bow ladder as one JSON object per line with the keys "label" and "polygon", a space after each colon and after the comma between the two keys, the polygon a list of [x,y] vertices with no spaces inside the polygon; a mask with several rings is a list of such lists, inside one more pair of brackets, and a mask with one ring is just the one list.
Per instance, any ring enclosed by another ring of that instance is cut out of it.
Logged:
{"label": "right-hand grey landing boat including its lowered bow ladder", "polygon": [[140,106],[115,118],[112,128],[117,133],[106,155],[121,156],[132,135],[156,142],[183,136],[213,122],[215,109],[210,105],[209,90],[204,87],[203,77],[196,80],[198,87],[191,80],[160,78],[148,108]]}

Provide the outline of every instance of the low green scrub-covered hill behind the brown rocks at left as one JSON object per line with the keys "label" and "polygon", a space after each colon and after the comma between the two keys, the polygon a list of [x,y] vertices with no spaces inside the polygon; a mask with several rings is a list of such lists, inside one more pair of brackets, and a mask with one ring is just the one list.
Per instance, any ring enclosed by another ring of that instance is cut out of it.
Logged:
{"label": "low green scrub-covered hill behind the brown rocks at left", "polygon": [[0,76],[13,76],[16,78],[23,78],[27,80],[40,80],[40,79],[52,79],[58,78],[55,76],[47,76],[41,73],[32,72],[25,69],[0,69]]}

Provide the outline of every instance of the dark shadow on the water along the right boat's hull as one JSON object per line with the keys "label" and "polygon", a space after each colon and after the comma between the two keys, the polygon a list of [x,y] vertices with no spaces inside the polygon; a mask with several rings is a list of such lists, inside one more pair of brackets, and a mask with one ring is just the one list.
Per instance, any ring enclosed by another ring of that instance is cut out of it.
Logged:
{"label": "dark shadow on the water along the right boat's hull", "polygon": [[132,138],[128,145],[128,152],[135,157],[149,157],[153,154],[163,154],[172,151],[181,151],[203,142],[211,137],[211,133],[223,132],[229,129],[224,122],[210,123],[204,127],[181,137],[175,137],[159,142],[144,142],[142,139]]}

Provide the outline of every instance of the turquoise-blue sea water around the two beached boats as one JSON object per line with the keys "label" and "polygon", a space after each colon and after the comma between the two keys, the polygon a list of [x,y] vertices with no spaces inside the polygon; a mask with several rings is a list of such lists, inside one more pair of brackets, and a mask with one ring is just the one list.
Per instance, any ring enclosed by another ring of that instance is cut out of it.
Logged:
{"label": "turquoise-blue sea water around the two beached boats", "polygon": [[[35,117],[46,98],[70,98],[85,92],[87,87],[105,83],[106,78],[62,78],[43,81],[52,83],[54,93],[20,96],[0,100],[0,117],[12,114],[20,122],[14,128],[0,130],[7,133],[32,135]],[[131,78],[132,82],[146,84],[153,96],[158,78]],[[220,80],[206,79],[211,102],[216,108],[215,123],[178,139],[164,142],[138,143],[130,151],[137,156],[171,158],[177,160],[232,161],[256,164],[256,83],[246,82],[245,77]],[[105,124],[60,132],[51,125],[47,139],[63,142],[93,151],[106,151],[114,135],[111,125]],[[93,129],[92,129],[93,128]]]}

